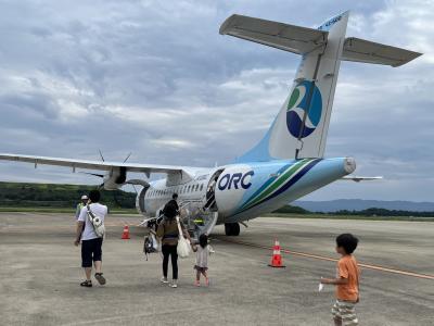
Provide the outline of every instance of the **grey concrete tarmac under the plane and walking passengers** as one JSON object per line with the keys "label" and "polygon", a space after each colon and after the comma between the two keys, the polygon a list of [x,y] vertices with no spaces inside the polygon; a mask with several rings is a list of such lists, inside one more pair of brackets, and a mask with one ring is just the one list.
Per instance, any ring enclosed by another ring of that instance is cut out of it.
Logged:
{"label": "grey concrete tarmac under the plane and walking passengers", "polygon": [[[73,215],[0,214],[0,325],[332,325],[334,289],[318,283],[335,274],[346,231],[360,239],[360,325],[434,325],[434,223],[261,217],[239,237],[217,226],[210,286],[193,286],[191,255],[177,289],[159,284],[158,253],[144,259],[143,228],[120,239],[125,223],[140,218],[106,220],[107,284],[81,288]],[[286,268],[267,266],[275,239]]]}

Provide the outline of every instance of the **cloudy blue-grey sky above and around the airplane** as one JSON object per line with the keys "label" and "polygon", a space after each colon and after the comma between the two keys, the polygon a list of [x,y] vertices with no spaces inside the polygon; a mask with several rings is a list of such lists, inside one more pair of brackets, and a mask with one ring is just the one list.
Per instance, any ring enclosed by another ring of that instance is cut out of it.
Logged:
{"label": "cloudy blue-grey sky above and around the airplane", "polygon": [[[326,156],[370,183],[305,200],[434,201],[434,1],[0,0],[0,152],[214,166],[266,133],[299,57],[218,34],[231,14],[316,27],[350,10],[347,36],[423,52],[401,67],[343,62]],[[0,162],[0,180],[99,184]]]}

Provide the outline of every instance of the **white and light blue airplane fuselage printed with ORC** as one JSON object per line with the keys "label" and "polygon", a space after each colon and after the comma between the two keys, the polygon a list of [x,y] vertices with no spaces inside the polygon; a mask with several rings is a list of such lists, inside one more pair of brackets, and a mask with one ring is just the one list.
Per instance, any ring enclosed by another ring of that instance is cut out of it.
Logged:
{"label": "white and light blue airplane fuselage printed with ORC", "polygon": [[[186,216],[196,216],[212,196],[217,224],[237,223],[272,212],[286,203],[352,173],[349,158],[304,159],[230,164],[200,170],[184,184],[150,183],[138,196],[140,213],[153,217],[178,193]],[[215,181],[216,179],[216,181]]]}

